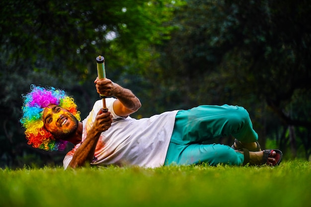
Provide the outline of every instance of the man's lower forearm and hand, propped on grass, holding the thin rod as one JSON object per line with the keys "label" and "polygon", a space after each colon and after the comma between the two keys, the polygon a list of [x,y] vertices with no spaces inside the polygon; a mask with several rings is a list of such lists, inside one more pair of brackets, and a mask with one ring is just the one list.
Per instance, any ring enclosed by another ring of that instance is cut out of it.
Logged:
{"label": "man's lower forearm and hand, propped on grass, holding the thin rod", "polygon": [[88,131],[83,143],[81,143],[81,145],[76,150],[73,159],[69,163],[69,167],[76,168],[83,166],[87,163],[91,163],[98,138],[100,137],[100,134],[102,132],[110,128],[111,123],[112,115],[110,114],[110,112],[104,112],[103,110],[99,110],[93,126]]}

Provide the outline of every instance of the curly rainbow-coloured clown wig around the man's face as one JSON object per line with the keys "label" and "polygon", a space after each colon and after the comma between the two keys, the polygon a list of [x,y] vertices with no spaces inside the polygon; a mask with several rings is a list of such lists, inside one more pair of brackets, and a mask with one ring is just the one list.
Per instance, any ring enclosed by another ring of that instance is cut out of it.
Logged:
{"label": "curly rainbow-coloured clown wig around the man's face", "polygon": [[44,128],[42,115],[45,107],[55,104],[71,112],[80,121],[80,112],[77,111],[78,107],[74,99],[66,95],[63,90],[35,85],[31,85],[30,92],[26,95],[23,94],[22,98],[23,115],[20,123],[25,128],[28,144],[47,151],[64,150],[68,141],[54,138]]}

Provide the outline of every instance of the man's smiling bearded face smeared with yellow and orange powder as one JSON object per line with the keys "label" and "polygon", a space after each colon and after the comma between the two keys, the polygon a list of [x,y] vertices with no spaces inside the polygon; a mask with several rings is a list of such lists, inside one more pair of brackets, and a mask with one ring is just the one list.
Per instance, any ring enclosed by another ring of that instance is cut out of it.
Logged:
{"label": "man's smiling bearded face smeared with yellow and orange powder", "polygon": [[42,120],[45,129],[55,138],[67,140],[78,129],[76,117],[58,105],[48,105],[43,111]]}

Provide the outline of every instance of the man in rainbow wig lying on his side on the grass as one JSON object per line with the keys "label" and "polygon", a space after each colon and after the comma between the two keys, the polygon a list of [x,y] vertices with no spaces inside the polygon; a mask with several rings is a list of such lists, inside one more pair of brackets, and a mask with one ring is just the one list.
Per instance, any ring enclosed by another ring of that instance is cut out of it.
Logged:
{"label": "man in rainbow wig lying on his side on the grass", "polygon": [[[91,165],[159,167],[170,164],[278,165],[282,152],[261,150],[248,112],[239,106],[202,105],[189,110],[164,112],[150,118],[129,115],[141,107],[129,90],[110,79],[94,81],[102,101],[95,102],[80,122],[74,99],[65,91],[31,85],[23,95],[23,116],[28,144],[45,150],[75,147],[64,158],[64,168]],[[233,145],[202,144],[232,135]]]}

